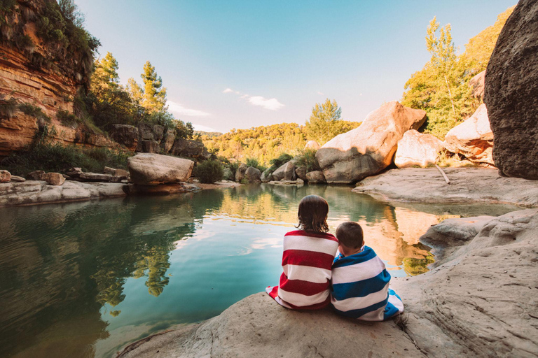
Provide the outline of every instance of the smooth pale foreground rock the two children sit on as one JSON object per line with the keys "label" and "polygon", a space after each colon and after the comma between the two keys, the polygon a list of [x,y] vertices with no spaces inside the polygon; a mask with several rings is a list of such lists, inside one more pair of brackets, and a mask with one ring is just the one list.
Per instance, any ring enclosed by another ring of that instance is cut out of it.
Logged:
{"label": "smooth pale foreground rock the two children sit on", "polygon": [[[469,221],[474,222],[469,229]],[[361,323],[331,310],[282,308],[265,293],[200,324],[128,345],[118,358],[153,357],[534,357],[538,352],[538,210],[450,221],[436,243],[444,264],[392,278],[406,323]],[[432,227],[434,229],[435,227]],[[461,229],[461,230],[460,230]],[[462,231],[460,233],[460,231]],[[457,238],[453,239],[453,234]],[[401,327],[401,328],[399,328]]]}

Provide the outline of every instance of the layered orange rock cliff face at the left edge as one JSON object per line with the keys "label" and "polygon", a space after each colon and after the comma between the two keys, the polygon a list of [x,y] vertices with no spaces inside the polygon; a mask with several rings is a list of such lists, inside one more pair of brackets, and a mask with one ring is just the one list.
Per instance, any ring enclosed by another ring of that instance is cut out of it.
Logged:
{"label": "layered orange rock cliff face at the left edge", "polygon": [[[57,118],[59,111],[74,114],[73,101],[83,76],[73,76],[61,66],[39,66],[36,59],[50,60],[35,16],[46,3],[18,0],[1,14],[7,20],[2,24],[0,41],[0,106],[4,106],[0,111],[0,157],[24,150],[44,126],[48,126],[53,140],[61,143],[114,145],[102,134],[78,124],[64,125]],[[26,47],[20,45],[21,39],[27,41]]]}

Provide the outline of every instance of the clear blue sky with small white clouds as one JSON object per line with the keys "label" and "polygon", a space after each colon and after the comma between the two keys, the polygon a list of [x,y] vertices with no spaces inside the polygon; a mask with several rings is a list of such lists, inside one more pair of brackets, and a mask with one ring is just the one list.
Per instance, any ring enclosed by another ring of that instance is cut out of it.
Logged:
{"label": "clear blue sky with small white clouds", "polygon": [[170,111],[201,130],[304,124],[336,99],[364,120],[429,59],[434,16],[455,45],[492,25],[516,0],[76,0],[85,27],[112,52],[122,83],[149,60]]}

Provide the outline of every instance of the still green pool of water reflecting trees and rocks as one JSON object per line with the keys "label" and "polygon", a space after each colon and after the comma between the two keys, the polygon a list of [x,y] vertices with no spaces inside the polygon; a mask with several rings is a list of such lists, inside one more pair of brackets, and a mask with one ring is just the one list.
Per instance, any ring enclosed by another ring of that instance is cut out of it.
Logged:
{"label": "still green pool of water reflecting trees and rocks", "polygon": [[[163,197],[0,209],[0,357],[113,357],[173,324],[277,285],[298,202],[359,222],[393,276],[427,271],[418,242],[446,217],[510,206],[389,206],[349,187],[243,185]],[[405,297],[404,297],[405,299]]]}

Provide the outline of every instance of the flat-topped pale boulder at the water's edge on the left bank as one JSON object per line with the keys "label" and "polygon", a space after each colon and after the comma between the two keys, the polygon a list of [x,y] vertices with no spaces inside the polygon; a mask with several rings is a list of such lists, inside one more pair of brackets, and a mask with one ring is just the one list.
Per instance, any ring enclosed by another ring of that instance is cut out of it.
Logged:
{"label": "flat-topped pale boulder at the water's edge on the left bank", "polygon": [[193,173],[194,162],[188,159],[153,153],[139,153],[127,159],[131,181],[152,185],[161,182],[186,182]]}

